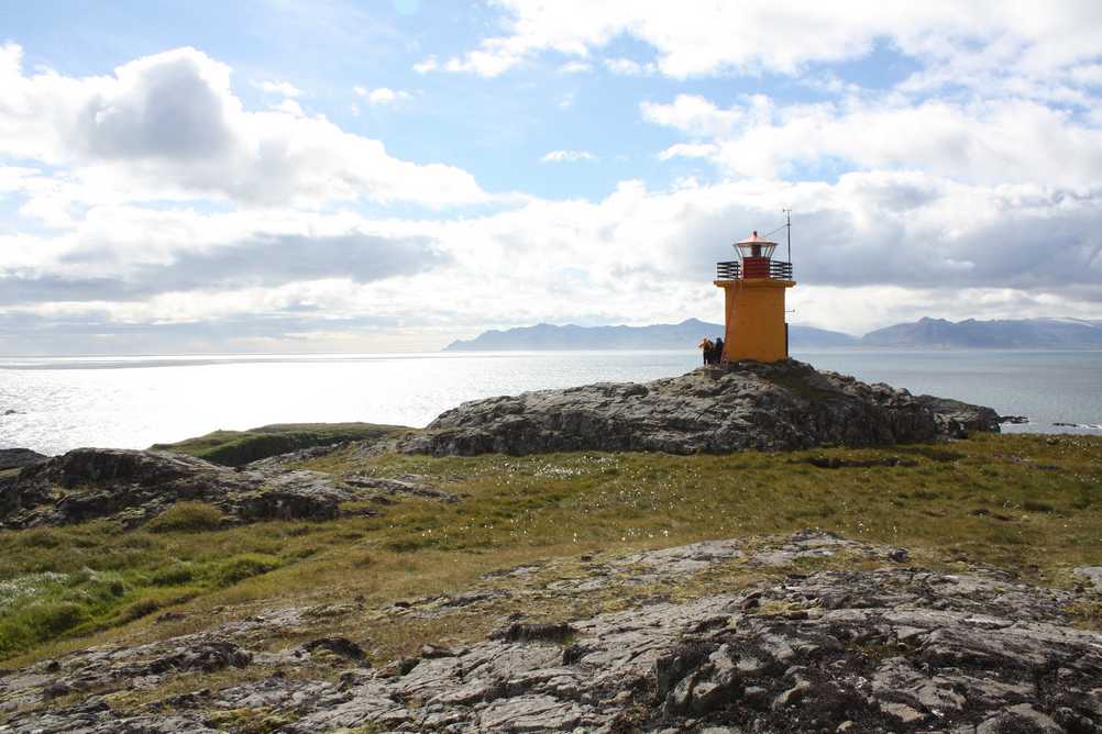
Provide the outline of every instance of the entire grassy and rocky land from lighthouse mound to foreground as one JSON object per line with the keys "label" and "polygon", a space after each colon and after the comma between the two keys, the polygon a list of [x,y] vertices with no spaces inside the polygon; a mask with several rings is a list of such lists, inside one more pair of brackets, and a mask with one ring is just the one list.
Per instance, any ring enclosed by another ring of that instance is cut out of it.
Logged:
{"label": "entire grassy and rocky land from lighthouse mound to foreground", "polygon": [[789,361],[12,454],[0,734],[1102,732],[1096,445],[914,446],[998,421]]}

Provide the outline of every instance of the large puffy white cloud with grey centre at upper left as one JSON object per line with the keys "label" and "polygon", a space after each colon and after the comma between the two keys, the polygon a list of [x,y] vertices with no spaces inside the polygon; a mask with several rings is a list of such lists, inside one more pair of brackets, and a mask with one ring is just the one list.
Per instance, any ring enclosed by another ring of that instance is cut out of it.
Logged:
{"label": "large puffy white cloud with grey centre at upper left", "polygon": [[307,207],[488,200],[468,173],[395,158],[381,142],[305,116],[293,100],[246,110],[229,67],[194,48],[137,59],[109,77],[24,75],[20,58],[18,46],[0,52],[0,154],[64,167],[56,198]]}

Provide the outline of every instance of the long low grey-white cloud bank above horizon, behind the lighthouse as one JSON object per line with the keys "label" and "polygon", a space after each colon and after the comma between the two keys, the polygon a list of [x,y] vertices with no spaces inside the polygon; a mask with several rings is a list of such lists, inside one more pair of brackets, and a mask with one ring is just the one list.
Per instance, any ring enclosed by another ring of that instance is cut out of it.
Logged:
{"label": "long low grey-white cloud bank above horizon, behind the lighthouse", "polygon": [[[71,232],[0,237],[0,249],[17,253],[0,267],[0,293],[9,302],[24,294],[0,314],[55,318],[63,308],[66,318],[99,319],[105,332],[223,319],[273,339],[288,329],[331,332],[324,325],[342,319],[347,328],[379,318],[446,325],[451,333],[719,319],[715,262],[750,229],[781,223],[785,207],[795,210],[799,322],[861,332],[916,314],[1089,317],[1102,304],[1102,187],[856,173],[835,184],[667,191],[627,182],[599,201],[531,199],[445,220],[101,207]],[[518,272],[528,274],[520,289]]]}

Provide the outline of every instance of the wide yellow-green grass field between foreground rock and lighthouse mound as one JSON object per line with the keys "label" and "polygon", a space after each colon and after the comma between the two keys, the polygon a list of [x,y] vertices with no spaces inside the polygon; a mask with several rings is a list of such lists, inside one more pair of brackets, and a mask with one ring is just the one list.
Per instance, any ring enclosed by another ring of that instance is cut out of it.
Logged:
{"label": "wide yellow-green grass field between foreground rock and lighthouse mound", "polygon": [[[875,465],[894,456],[915,465]],[[803,462],[809,457],[874,465],[819,469]],[[468,591],[494,569],[541,565],[536,578],[545,583],[584,576],[583,555],[803,527],[907,546],[948,566],[994,563],[1055,584],[1070,584],[1074,566],[1102,565],[1102,439],[1094,437],[977,436],[947,447],[694,457],[361,457],[348,448],[302,465],[422,474],[462,499],[404,500],[380,516],[328,523],[205,532],[169,523],[160,532],[122,532],[98,522],[0,532],[0,667],[111,639],[182,634],[266,607],[377,610]],[[631,598],[620,589],[575,603],[548,593],[540,611],[558,621],[625,609],[636,598],[691,596],[750,580],[739,573],[633,589]],[[485,635],[501,614],[531,612],[517,603],[504,599],[431,620],[346,611],[295,634],[346,634],[382,664],[425,642]],[[183,618],[152,624],[169,609]],[[1076,618],[1096,625],[1096,609],[1078,610]]]}

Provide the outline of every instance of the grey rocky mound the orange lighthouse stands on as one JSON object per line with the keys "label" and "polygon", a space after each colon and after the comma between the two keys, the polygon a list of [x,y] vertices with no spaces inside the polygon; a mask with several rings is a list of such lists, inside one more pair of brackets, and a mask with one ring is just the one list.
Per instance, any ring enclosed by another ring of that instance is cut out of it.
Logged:
{"label": "grey rocky mound the orange lighthouse stands on", "polygon": [[998,430],[990,408],[792,360],[699,369],[646,384],[599,383],[464,403],[391,448],[410,453],[726,452],[879,446]]}

